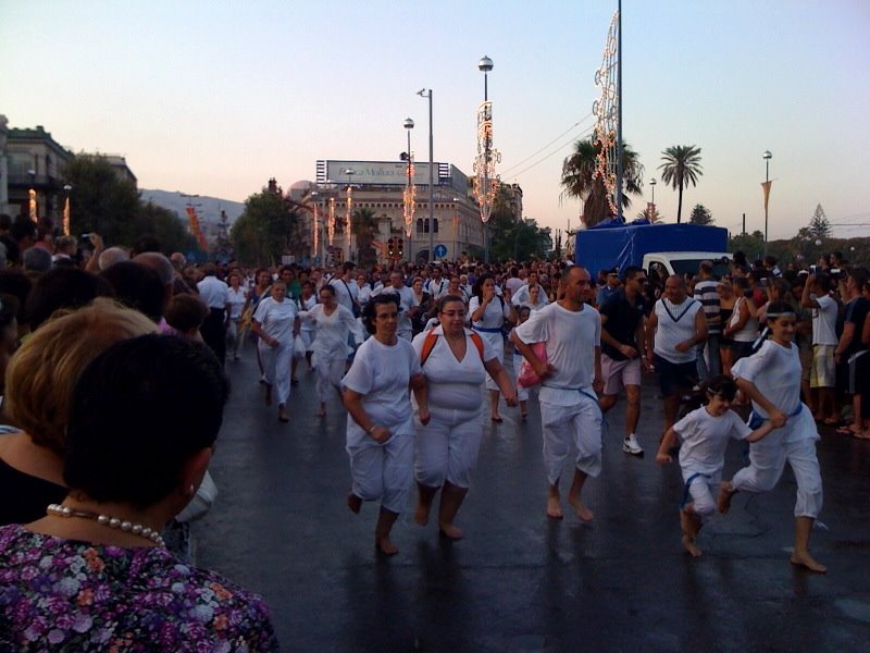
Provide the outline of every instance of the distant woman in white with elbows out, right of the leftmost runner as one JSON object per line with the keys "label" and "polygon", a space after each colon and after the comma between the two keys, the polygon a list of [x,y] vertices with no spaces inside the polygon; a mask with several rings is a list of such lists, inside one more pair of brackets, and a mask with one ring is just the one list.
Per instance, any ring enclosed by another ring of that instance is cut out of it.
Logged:
{"label": "distant woman in white with elbows out, right of the leftmost runner", "polygon": [[341,374],[347,362],[347,336],[357,324],[353,313],[339,305],[335,298],[335,288],[325,285],[320,289],[320,304],[299,313],[302,329],[314,329],[311,362],[318,374],[318,398],[320,410],[318,417],[326,415],[326,397],[330,387],[334,387],[341,396]]}

